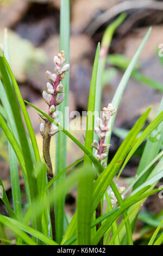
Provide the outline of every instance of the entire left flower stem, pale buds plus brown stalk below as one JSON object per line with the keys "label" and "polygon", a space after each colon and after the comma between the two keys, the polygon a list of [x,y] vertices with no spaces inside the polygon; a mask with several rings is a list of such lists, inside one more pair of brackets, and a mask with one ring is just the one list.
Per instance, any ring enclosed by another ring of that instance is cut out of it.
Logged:
{"label": "entire left flower stem, pale buds plus brown stalk below", "polygon": [[[44,101],[48,104],[49,110],[48,115],[49,117],[53,118],[54,120],[57,118],[56,107],[64,101],[64,87],[61,84],[61,81],[65,77],[66,71],[68,71],[70,65],[65,64],[65,52],[61,51],[54,56],[54,74],[50,71],[46,71],[47,78],[49,82],[47,82],[47,91],[44,90],[42,93]],[[58,94],[60,94],[58,96]],[[58,127],[51,123],[47,118],[40,115],[41,121],[40,124],[40,133],[43,137],[43,159],[47,166],[47,178],[48,182],[53,178],[53,167],[50,155],[50,144],[51,144],[51,137],[55,135],[59,131]],[[54,194],[54,188],[49,188],[49,193]],[[54,214],[54,204],[49,205],[50,209],[50,217],[51,217],[51,225],[52,225],[52,236],[53,240],[55,241],[55,214]]]}

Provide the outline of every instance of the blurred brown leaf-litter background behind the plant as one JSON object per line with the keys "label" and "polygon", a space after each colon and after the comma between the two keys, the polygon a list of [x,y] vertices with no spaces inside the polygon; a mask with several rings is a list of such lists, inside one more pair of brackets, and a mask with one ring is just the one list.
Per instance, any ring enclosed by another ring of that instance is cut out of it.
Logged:
{"label": "blurred brown leaf-litter background behind the plant", "polygon": [[[41,94],[47,82],[45,72],[53,71],[53,57],[59,52],[59,10],[60,0],[0,0],[0,43],[3,44],[4,28],[8,28],[11,68],[23,99],[44,111],[46,104]],[[111,102],[124,70],[149,26],[152,26],[152,33],[122,97],[111,139],[110,159],[140,114],[152,105],[148,120],[151,121],[158,109],[163,92],[163,57],[158,54],[159,45],[163,44],[163,1],[71,0],[70,111],[86,111],[97,43],[102,40],[106,27],[122,12],[127,17],[116,29],[109,48],[103,77],[102,107]],[[39,118],[33,108],[27,106],[27,109],[41,150]],[[83,143],[82,131],[73,131],[73,135]],[[2,131],[0,138],[0,175],[10,193],[8,145]],[[128,180],[135,175],[143,146],[124,169],[120,185],[127,186]],[[67,147],[67,164],[83,156],[82,151],[69,140]],[[52,157],[55,161],[55,143],[52,143]],[[21,172],[20,182],[23,188]],[[158,186],[161,184],[159,182]],[[67,197],[66,207],[70,215],[75,209],[75,198],[76,191]],[[163,200],[154,194],[146,201],[143,210],[156,216],[162,206]],[[136,230],[149,225],[145,220],[145,215],[140,216]],[[135,233],[135,237],[140,239],[141,235]]]}

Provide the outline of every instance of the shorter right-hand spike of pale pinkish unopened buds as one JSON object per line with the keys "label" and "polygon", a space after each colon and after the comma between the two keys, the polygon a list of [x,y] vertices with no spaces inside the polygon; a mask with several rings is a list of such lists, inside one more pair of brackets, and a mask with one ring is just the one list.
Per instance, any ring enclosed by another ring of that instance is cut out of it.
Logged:
{"label": "shorter right-hand spike of pale pinkish unopened buds", "polygon": [[[108,151],[110,144],[105,144],[106,132],[109,131],[108,122],[112,115],[116,112],[116,108],[109,103],[108,107],[103,108],[103,119],[97,118],[98,127],[95,127],[95,132],[99,137],[100,142],[94,139],[92,147],[96,149],[95,157],[101,163],[107,157],[106,152]],[[106,168],[106,163],[103,162],[103,167]]]}

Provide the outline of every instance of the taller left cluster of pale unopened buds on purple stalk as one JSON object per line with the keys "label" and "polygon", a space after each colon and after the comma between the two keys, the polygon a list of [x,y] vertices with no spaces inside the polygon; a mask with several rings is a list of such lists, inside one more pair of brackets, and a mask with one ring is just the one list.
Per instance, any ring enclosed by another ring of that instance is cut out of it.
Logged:
{"label": "taller left cluster of pale unopened buds on purple stalk", "polygon": [[[46,75],[49,82],[47,82],[47,90],[43,91],[42,96],[43,96],[43,100],[49,106],[48,115],[54,120],[57,118],[56,107],[62,101],[64,101],[64,98],[65,98],[64,87],[62,86],[61,81],[64,79],[66,71],[68,71],[68,69],[70,68],[69,64],[65,64],[64,66],[62,66],[65,62],[66,62],[65,52],[61,51],[60,53],[57,54],[57,56],[54,56],[54,73],[52,74],[50,71],[46,71]],[[40,113],[39,115],[41,119],[45,121],[45,122],[41,121],[41,124],[40,124],[40,132],[41,132],[41,135],[43,136],[47,118],[45,118]],[[50,126],[51,127],[49,129],[48,134],[49,136],[53,136],[59,130],[58,130],[58,127],[53,123],[51,123]]]}

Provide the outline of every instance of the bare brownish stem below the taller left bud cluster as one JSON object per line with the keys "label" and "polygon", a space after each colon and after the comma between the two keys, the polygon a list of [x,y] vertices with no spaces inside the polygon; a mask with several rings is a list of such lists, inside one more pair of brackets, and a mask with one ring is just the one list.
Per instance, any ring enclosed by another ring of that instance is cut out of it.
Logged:
{"label": "bare brownish stem below the taller left bud cluster", "polygon": [[[47,178],[48,182],[53,178],[53,168],[50,156],[50,143],[51,136],[49,136],[49,131],[51,130],[51,122],[49,120],[45,121],[45,129],[43,133],[43,158],[47,164]],[[53,193],[53,187],[49,188],[49,193]],[[51,225],[52,225],[52,235],[53,240],[55,241],[55,215],[54,215],[54,204],[50,206],[50,216],[51,216]]]}

